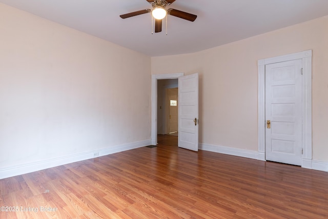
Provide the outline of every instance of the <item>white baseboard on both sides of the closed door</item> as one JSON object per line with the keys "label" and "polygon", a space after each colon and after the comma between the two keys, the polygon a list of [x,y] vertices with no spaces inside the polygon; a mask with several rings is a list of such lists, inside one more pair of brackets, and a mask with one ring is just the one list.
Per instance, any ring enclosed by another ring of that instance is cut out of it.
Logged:
{"label": "white baseboard on both sides of the closed door", "polygon": [[[265,153],[199,143],[199,149],[265,161]],[[328,162],[303,159],[303,168],[328,172]]]}

